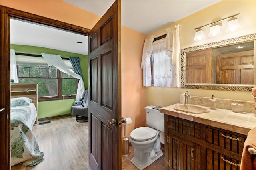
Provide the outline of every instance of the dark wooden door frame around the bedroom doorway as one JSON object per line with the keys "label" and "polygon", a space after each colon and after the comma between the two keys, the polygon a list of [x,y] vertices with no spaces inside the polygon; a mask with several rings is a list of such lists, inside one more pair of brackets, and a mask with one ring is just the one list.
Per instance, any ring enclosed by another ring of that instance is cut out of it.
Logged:
{"label": "dark wooden door frame around the bedroom doorway", "polygon": [[[0,5],[0,169],[10,170],[10,18],[88,36],[90,29]],[[7,119],[6,119],[7,118]],[[9,129],[9,130],[6,130]]]}

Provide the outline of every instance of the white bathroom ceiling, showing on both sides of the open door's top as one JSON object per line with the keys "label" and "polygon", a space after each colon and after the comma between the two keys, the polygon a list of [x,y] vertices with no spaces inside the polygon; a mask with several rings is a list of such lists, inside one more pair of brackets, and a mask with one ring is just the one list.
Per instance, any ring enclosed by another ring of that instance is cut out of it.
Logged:
{"label": "white bathroom ceiling, showing on both sides of the open door's top", "polygon": [[[79,8],[103,16],[114,0],[63,0]],[[140,32],[154,30],[189,16],[220,0],[122,0],[121,22]]]}

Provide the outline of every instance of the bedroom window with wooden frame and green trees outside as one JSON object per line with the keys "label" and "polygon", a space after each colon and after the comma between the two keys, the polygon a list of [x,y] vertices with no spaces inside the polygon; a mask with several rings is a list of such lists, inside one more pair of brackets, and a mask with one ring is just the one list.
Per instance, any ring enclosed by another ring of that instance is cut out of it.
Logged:
{"label": "bedroom window with wooden frame and green trees outside", "polygon": [[17,65],[19,83],[38,83],[38,101],[76,97],[78,79],[71,75],[42,63],[17,62]]}

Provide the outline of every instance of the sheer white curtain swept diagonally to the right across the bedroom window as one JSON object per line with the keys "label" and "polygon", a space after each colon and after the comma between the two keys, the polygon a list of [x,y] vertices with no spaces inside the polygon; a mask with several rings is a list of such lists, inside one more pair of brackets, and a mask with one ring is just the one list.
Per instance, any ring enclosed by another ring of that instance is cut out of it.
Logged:
{"label": "sheer white curtain swept diagonally to the right across the bedroom window", "polygon": [[80,75],[76,74],[72,69],[68,68],[67,65],[64,63],[60,55],[53,55],[53,54],[44,54],[42,53],[43,58],[47,62],[49,66],[54,66],[60,71],[72,75],[73,77],[79,79],[78,88],[76,93],[76,100],[79,101],[82,97],[82,93],[84,92],[84,82]]}

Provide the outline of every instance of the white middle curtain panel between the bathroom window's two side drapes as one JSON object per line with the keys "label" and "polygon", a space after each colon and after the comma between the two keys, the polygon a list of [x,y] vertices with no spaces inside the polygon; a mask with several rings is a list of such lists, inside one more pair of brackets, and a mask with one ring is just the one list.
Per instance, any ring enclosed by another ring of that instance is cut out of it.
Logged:
{"label": "white middle curtain panel between the bathroom window's two side drapes", "polygon": [[176,87],[173,77],[177,73],[172,65],[172,59],[166,55],[164,40],[158,40],[153,43],[154,57],[154,86],[156,87]]}

